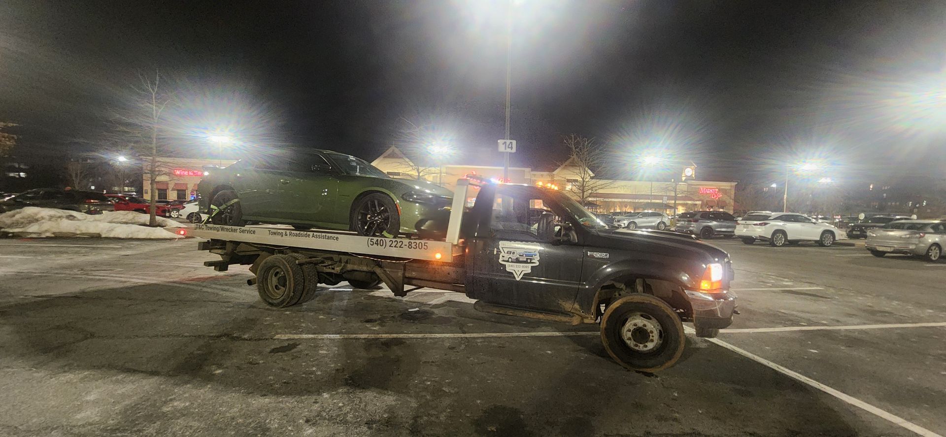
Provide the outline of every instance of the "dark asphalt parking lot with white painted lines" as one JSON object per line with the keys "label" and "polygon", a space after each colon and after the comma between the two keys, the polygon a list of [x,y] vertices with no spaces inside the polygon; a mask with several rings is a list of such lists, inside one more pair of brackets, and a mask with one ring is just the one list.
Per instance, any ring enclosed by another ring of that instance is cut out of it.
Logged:
{"label": "dark asphalt parking lot with white painted lines", "polygon": [[0,435],[946,433],[946,262],[712,243],[742,314],[644,375],[459,293],[272,309],[193,239],[0,240]]}

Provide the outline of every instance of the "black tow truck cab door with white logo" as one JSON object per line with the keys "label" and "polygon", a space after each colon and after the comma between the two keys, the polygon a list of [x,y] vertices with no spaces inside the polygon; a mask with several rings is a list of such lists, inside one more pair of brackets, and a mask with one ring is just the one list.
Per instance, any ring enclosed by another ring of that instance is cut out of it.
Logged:
{"label": "black tow truck cab door with white logo", "polygon": [[569,310],[581,281],[583,248],[558,244],[555,232],[564,223],[549,208],[543,190],[522,185],[493,189],[495,197],[486,196],[492,205],[475,206],[492,208],[480,211],[488,223],[482,222],[477,236],[468,240],[475,255],[468,258],[466,294],[491,304]]}

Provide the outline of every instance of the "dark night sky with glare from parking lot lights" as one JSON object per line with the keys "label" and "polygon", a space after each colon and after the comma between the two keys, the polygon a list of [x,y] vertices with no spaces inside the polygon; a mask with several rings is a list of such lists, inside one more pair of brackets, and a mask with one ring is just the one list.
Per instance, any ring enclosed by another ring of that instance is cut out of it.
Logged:
{"label": "dark night sky with glare from parking lot lights", "polygon": [[188,134],[371,160],[408,120],[454,161],[499,165],[508,12],[514,166],[564,160],[569,133],[622,168],[661,149],[716,180],[813,157],[849,178],[943,164],[946,2],[515,3],[5,0],[0,120],[22,125],[18,155],[95,149],[159,68]]}

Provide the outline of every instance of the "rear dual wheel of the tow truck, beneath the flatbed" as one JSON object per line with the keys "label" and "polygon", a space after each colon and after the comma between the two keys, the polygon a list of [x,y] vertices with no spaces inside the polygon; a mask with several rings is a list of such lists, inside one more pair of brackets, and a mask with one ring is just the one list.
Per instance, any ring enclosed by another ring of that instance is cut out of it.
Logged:
{"label": "rear dual wheel of the tow truck, beneath the flatbed", "polygon": [[284,308],[299,303],[306,293],[306,273],[295,255],[275,254],[256,271],[256,291],[268,306]]}

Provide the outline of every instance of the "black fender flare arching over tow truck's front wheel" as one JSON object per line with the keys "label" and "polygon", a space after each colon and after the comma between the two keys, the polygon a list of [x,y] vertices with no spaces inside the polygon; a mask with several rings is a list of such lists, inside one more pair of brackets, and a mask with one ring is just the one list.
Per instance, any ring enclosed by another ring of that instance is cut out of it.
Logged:
{"label": "black fender flare arching over tow truck's front wheel", "polygon": [[587,316],[593,317],[601,300],[600,290],[609,282],[622,277],[657,279],[675,284],[680,288],[694,287],[694,279],[679,267],[645,259],[622,260],[608,264],[591,273],[585,282],[585,286],[579,290],[578,297],[575,299],[576,309]]}

